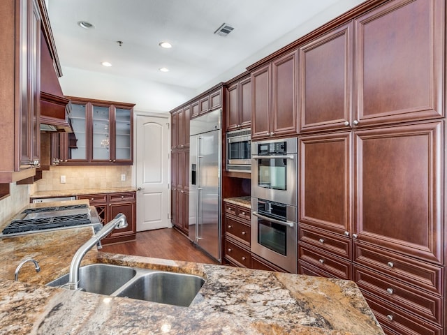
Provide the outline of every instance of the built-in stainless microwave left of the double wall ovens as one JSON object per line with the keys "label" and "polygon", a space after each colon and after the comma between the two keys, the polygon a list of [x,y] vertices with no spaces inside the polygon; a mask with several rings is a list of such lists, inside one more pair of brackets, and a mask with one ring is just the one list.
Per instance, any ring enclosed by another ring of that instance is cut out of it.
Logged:
{"label": "built-in stainless microwave left of the double wall ovens", "polygon": [[251,130],[249,128],[226,133],[226,170],[251,172]]}

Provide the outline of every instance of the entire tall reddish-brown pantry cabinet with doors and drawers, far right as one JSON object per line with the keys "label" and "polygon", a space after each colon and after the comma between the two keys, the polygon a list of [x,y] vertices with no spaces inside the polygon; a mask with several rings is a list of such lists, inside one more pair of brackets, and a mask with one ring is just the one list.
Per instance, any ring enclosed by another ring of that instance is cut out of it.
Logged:
{"label": "entire tall reddish-brown pantry cabinet with doors and drawers, far right", "polygon": [[356,281],[386,334],[446,334],[445,11],[386,1],[298,47],[299,272]]}

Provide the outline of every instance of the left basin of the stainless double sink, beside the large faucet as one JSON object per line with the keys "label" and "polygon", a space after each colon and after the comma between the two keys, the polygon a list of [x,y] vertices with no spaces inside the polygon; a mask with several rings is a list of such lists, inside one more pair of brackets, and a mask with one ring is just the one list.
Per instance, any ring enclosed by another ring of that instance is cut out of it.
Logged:
{"label": "left basin of the stainless double sink, beside the large faucet", "polygon": [[[122,285],[130,281],[137,271],[131,267],[119,265],[91,264],[79,268],[79,287],[82,290],[99,295],[111,295]],[[47,286],[62,286],[68,283],[69,274],[65,274]]]}

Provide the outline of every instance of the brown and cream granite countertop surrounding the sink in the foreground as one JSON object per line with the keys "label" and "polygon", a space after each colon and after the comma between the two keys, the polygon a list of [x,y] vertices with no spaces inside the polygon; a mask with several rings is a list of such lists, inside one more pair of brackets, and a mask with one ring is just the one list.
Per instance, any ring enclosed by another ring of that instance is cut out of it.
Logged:
{"label": "brown and cream granite countertop surrounding the sink in the foreground", "polygon": [[[44,284],[66,274],[92,228],[0,239],[0,334],[383,334],[352,281],[101,253],[96,262],[196,274],[205,284],[189,307]],[[15,282],[15,267],[27,263]]]}

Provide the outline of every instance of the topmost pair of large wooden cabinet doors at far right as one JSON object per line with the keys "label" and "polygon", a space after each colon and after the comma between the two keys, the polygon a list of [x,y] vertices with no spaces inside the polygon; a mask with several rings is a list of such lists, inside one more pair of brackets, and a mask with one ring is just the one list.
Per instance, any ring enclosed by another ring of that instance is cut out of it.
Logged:
{"label": "topmost pair of large wooden cabinet doors at far right", "polygon": [[443,1],[390,1],[300,45],[300,132],[444,117],[443,18]]}

